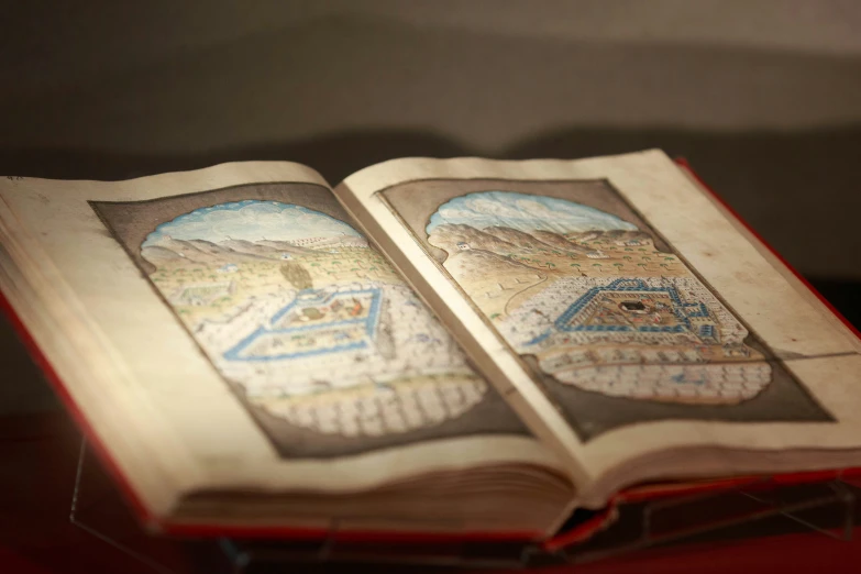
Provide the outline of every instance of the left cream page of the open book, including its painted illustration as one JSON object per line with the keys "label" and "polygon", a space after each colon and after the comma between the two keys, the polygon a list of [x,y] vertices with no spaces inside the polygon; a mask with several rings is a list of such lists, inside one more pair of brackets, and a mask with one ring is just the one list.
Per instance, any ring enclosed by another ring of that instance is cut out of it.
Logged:
{"label": "left cream page of the open book, including its painted illustration", "polygon": [[476,465],[562,472],[303,166],[14,178],[0,198],[2,265],[22,275],[3,290],[156,512],[176,503],[167,484],[345,492]]}

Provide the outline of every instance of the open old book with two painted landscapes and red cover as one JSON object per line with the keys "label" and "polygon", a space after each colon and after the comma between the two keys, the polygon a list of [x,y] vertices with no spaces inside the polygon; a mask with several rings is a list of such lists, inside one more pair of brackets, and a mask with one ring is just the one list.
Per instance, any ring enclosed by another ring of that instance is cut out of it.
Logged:
{"label": "open old book with two painted landscapes and red cover", "polygon": [[8,177],[0,288],[162,529],[543,539],[861,465],[861,341],[659,151]]}

